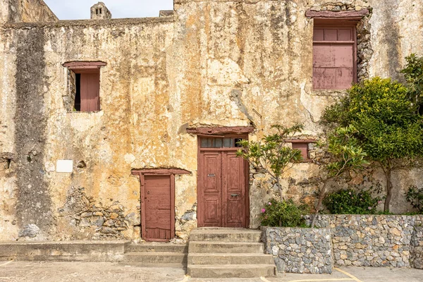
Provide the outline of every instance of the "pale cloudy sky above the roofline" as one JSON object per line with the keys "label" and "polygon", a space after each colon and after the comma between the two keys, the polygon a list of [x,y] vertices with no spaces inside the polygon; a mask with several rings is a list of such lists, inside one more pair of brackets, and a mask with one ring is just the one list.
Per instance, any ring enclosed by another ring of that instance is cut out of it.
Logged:
{"label": "pale cloudy sky above the roofline", "polygon": [[[44,0],[60,20],[90,18],[90,7],[99,0]],[[113,18],[157,17],[159,10],[172,10],[173,0],[102,0]]]}

